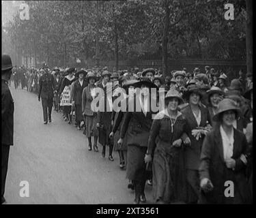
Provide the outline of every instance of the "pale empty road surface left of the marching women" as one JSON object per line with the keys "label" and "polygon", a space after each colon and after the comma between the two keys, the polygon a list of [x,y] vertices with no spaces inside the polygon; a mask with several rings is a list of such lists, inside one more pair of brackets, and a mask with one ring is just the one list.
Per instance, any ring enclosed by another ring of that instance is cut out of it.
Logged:
{"label": "pale empty road surface left of the marching women", "polygon": [[[53,123],[44,125],[42,104],[27,90],[14,89],[14,146],[10,149],[5,199],[8,204],[132,204],[126,173],[118,154],[109,161],[87,150],[82,131],[53,111]],[[29,198],[20,197],[20,181],[29,182]],[[147,202],[152,202],[146,185]]]}

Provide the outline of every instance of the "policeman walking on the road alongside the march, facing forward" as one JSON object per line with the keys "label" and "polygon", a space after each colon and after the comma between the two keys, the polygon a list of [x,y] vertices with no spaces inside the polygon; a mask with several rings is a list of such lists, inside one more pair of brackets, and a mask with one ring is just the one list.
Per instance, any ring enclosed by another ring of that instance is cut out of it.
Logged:
{"label": "policeman walking on the road alongside the march, facing forward", "polygon": [[[53,91],[55,91],[55,79],[52,74],[44,70],[39,80],[38,101],[42,98],[42,108],[44,113],[44,124],[51,123],[51,112],[53,108]],[[47,110],[48,109],[48,110]]]}

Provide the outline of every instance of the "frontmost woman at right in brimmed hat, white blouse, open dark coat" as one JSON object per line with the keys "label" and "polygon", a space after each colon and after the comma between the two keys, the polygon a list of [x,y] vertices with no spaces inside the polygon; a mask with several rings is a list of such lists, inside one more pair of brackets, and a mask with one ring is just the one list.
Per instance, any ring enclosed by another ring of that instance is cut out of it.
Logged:
{"label": "frontmost woman at right in brimmed hat, white blouse, open dark coat", "polygon": [[[231,99],[223,99],[214,121],[218,125],[206,135],[200,158],[200,203],[248,204],[251,195],[245,170],[246,137],[233,127],[240,110]],[[227,181],[231,182],[227,185]],[[233,196],[232,196],[233,193]]]}

